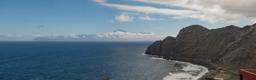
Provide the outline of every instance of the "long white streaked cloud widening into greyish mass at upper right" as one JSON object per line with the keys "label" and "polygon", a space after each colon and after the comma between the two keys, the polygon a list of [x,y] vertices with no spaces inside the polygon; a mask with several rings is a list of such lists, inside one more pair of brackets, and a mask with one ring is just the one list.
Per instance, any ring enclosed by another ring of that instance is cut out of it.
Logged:
{"label": "long white streaked cloud widening into greyish mass at upper right", "polygon": [[[132,6],[122,4],[99,3],[114,9],[141,12],[145,14],[160,14],[177,16],[175,19],[193,18],[199,21],[215,22],[239,22],[241,19],[251,19],[256,22],[256,0],[132,0],[144,3],[159,4],[165,6],[181,7],[188,10],[175,10],[167,8],[155,8],[151,6]],[[95,1],[96,2],[96,1]],[[170,7],[171,8],[171,7]],[[182,17],[181,17],[182,16]]]}

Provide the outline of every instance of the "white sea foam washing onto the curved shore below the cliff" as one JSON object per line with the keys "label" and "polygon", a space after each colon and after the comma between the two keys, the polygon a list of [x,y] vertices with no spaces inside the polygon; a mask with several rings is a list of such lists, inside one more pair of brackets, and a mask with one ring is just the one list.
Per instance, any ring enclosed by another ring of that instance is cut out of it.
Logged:
{"label": "white sea foam washing onto the curved shore below the cliff", "polygon": [[[151,57],[151,59],[165,60],[163,58],[158,58],[158,57]],[[166,61],[173,61],[173,60],[166,60]],[[182,66],[183,72],[180,72],[180,73],[170,72],[166,77],[163,78],[163,80],[197,80],[203,75],[205,75],[205,73],[209,72],[206,67],[203,67],[200,65],[195,65],[188,62],[182,62],[182,61],[174,61],[174,62],[184,64],[184,66]],[[198,74],[198,75],[192,75],[192,74]]]}

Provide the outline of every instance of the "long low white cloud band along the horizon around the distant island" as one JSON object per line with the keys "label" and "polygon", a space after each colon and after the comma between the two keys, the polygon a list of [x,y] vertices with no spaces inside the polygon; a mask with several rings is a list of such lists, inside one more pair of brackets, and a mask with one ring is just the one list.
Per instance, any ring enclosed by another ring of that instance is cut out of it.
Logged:
{"label": "long low white cloud band along the horizon around the distant island", "polygon": [[[121,31],[116,31],[116,32],[109,32],[109,33],[105,33],[105,34],[99,34],[99,35],[77,35],[77,34],[69,34],[69,35],[32,35],[32,36],[21,36],[21,35],[0,35],[2,36],[3,39],[0,38],[1,40],[11,40],[11,39],[35,39],[35,38],[45,38],[45,39],[100,39],[102,41],[104,41],[105,39],[128,39],[129,40],[133,40],[133,39],[138,39],[138,38],[151,38],[154,40],[154,38],[156,40],[158,40],[159,38],[165,38],[167,36],[170,35],[159,35],[159,34],[155,34],[155,33],[131,33],[131,32],[121,32]],[[175,36],[173,36],[175,37]],[[8,38],[8,39],[4,39],[4,38]],[[136,40],[135,39],[135,40]],[[147,41],[145,39],[145,41]]]}

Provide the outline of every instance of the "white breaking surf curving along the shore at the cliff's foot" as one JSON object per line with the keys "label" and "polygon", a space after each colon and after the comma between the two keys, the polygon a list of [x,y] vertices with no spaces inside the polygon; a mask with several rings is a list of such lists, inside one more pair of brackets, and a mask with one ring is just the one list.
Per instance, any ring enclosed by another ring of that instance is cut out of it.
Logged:
{"label": "white breaking surf curving along the shore at the cliff's foot", "polygon": [[[143,55],[148,55],[144,54]],[[166,60],[164,58],[156,57],[156,55],[149,55],[153,56],[151,59],[155,60]],[[195,65],[188,62],[182,61],[174,61],[174,60],[166,60],[166,61],[173,61],[176,62],[174,65],[174,69],[168,73],[163,80],[197,80],[205,73],[208,73],[208,69],[206,67]]]}

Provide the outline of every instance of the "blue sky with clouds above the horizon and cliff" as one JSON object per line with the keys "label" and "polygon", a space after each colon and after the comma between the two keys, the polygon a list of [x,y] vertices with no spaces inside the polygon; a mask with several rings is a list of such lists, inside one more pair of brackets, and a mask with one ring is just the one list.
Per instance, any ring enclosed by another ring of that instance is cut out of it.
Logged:
{"label": "blue sky with clouds above the horizon and cliff", "polygon": [[[255,0],[0,0],[0,35],[97,35],[117,29],[177,36],[190,25],[256,23]],[[36,36],[37,35],[37,36]],[[30,40],[29,39],[29,40]]]}

